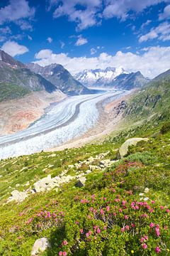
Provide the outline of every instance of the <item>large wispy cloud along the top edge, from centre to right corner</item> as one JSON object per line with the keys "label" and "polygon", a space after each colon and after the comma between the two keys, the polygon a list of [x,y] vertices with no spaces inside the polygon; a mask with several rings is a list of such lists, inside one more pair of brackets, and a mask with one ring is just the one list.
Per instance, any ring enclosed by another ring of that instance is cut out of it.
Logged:
{"label": "large wispy cloud along the top edge, from centre to right corner", "polygon": [[49,9],[55,6],[54,18],[67,16],[69,21],[77,23],[77,30],[81,31],[101,24],[102,18],[116,17],[125,21],[130,17],[130,12],[139,13],[149,6],[169,0],[49,0],[49,2]]}

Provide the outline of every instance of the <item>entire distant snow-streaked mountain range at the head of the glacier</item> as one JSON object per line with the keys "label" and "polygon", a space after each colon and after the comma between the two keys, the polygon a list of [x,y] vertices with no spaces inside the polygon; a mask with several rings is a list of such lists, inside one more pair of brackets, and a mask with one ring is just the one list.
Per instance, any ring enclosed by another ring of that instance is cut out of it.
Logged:
{"label": "entire distant snow-streaked mountain range at the head of the glacier", "polygon": [[91,87],[115,87],[123,90],[131,90],[135,87],[142,87],[147,82],[140,71],[128,73],[123,68],[106,68],[105,70],[84,70],[77,73],[74,78],[79,80],[83,85]]}

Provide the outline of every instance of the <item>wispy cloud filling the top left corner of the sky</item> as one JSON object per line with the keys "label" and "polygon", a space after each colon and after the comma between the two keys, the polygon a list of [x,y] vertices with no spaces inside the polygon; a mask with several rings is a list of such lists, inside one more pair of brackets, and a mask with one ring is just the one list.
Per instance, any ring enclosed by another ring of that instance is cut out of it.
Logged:
{"label": "wispy cloud filling the top left corner of the sky", "polygon": [[30,18],[35,14],[35,9],[30,8],[26,0],[10,0],[9,4],[0,9],[0,24],[8,21],[18,21]]}

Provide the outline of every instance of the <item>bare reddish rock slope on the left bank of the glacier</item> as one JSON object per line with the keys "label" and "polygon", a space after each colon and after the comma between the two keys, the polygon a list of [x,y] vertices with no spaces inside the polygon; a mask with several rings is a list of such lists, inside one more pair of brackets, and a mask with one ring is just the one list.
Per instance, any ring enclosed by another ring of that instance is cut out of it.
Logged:
{"label": "bare reddish rock slope on the left bank of the glacier", "polygon": [[0,104],[0,136],[13,134],[29,127],[39,119],[52,102],[62,100],[62,92],[32,92],[23,99]]}

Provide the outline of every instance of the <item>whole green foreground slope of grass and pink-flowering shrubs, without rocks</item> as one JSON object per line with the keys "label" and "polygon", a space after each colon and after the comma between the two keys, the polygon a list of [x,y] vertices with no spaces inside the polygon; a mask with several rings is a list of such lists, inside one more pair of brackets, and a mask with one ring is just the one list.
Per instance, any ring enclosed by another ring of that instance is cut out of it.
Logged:
{"label": "whole green foreground slope of grass and pink-flowering shrubs, without rocks", "polygon": [[[30,255],[42,237],[52,245],[42,255],[169,255],[169,122],[148,125],[101,144],[1,161],[0,255]],[[116,159],[120,144],[139,131],[149,141],[131,146],[125,159],[104,172],[88,174],[83,188],[73,180],[59,191],[4,204],[16,187],[23,191],[69,164],[108,150],[106,158]]]}

